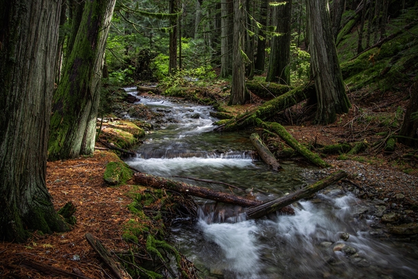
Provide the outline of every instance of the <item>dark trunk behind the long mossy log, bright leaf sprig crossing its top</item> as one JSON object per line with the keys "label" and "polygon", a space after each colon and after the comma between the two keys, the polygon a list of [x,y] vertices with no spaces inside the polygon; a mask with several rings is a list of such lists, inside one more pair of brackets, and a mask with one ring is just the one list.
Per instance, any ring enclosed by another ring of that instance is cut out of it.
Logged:
{"label": "dark trunk behind the long mossy log, bright leaf sprig crossing its top", "polygon": [[273,25],[280,36],[271,38],[269,70],[266,82],[291,83],[291,11],[292,1],[273,6]]}

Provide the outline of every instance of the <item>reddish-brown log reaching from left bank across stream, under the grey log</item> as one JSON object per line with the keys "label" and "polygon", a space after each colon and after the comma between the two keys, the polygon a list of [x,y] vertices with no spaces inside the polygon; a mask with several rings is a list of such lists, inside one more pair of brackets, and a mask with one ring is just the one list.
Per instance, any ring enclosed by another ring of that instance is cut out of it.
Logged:
{"label": "reddish-brown log reaching from left bank across stream, under the grey log", "polygon": [[[207,189],[204,187],[193,186],[184,182],[178,182],[174,180],[169,180],[166,178],[160,178],[155,175],[150,175],[146,173],[135,173],[134,182],[136,184],[141,184],[144,186],[151,186],[158,189],[169,189],[177,193],[182,193],[185,195],[192,195],[194,197],[203,197],[204,199],[211,199],[216,202],[223,202],[225,204],[234,204],[237,206],[257,206],[262,204],[262,202],[255,199],[247,199],[245,197],[238,197],[236,195],[222,193],[219,191],[214,191],[212,189]],[[293,214],[293,208],[286,207],[282,208],[282,213]]]}

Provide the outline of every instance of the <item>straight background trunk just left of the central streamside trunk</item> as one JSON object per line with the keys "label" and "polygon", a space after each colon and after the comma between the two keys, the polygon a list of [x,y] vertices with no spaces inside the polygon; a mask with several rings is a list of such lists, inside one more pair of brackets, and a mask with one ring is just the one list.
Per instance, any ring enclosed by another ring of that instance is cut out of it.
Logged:
{"label": "straight background trunk just left of the central streamside trunk", "polygon": [[232,0],[221,1],[221,74],[232,75],[232,34],[234,33],[234,3]]}

